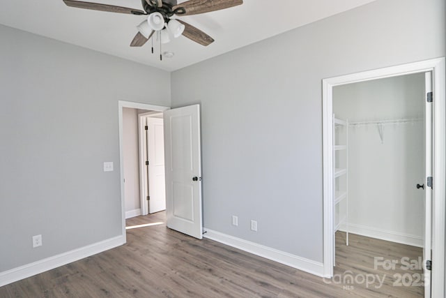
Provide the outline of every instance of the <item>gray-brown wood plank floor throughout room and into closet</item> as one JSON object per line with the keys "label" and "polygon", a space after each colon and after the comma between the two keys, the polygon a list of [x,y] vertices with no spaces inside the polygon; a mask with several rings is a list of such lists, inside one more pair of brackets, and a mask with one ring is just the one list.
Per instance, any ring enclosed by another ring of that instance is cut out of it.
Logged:
{"label": "gray-brown wood plank floor throughout room and into closet", "polygon": [[[124,246],[3,286],[0,297],[423,297],[422,286],[393,285],[398,282],[394,274],[410,274],[402,280],[407,285],[422,273],[401,269],[401,257],[417,260],[421,248],[355,234],[351,245],[345,246],[345,234],[338,232],[335,276],[324,281],[215,241],[169,230],[164,212],[130,218],[127,224],[159,222],[129,229]],[[374,257],[399,264],[392,270],[374,269]],[[376,280],[371,283],[372,274],[384,278],[381,287]],[[354,283],[343,283],[346,276],[353,276]]]}

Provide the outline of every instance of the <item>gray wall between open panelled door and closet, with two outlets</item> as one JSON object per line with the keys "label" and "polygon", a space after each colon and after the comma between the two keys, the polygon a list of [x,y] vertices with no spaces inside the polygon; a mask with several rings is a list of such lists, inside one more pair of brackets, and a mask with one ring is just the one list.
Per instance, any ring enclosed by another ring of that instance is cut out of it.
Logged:
{"label": "gray wall between open panelled door and closet, with two outlets", "polygon": [[205,227],[322,262],[321,80],[444,55],[444,0],[378,0],[172,73],[202,108]]}

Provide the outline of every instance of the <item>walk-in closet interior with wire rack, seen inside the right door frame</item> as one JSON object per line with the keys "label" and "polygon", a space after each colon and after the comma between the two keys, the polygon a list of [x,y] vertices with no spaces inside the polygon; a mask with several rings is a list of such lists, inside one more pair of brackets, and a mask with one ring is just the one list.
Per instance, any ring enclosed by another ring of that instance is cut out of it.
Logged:
{"label": "walk-in closet interior with wire rack, seen inside the right door frame", "polygon": [[335,266],[357,249],[397,267],[422,257],[424,93],[424,73],[334,87]]}

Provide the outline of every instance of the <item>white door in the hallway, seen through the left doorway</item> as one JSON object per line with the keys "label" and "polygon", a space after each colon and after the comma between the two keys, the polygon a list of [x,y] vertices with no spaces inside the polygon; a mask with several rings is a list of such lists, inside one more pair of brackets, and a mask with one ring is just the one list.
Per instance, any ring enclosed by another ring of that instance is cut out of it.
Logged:
{"label": "white door in the hallway, seen through the left doorway", "polygon": [[164,129],[161,118],[147,118],[148,213],[166,209]]}

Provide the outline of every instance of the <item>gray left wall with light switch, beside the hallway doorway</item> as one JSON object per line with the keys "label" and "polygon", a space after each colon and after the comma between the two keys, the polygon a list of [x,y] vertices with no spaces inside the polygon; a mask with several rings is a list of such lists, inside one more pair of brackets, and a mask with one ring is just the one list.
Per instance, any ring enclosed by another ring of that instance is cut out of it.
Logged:
{"label": "gray left wall with light switch, beside the hallway doorway", "polygon": [[171,88],[163,70],[8,27],[0,36],[5,271],[121,234],[118,100],[169,106]]}

